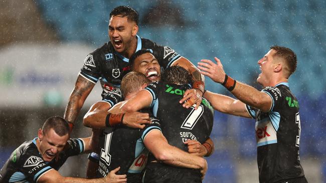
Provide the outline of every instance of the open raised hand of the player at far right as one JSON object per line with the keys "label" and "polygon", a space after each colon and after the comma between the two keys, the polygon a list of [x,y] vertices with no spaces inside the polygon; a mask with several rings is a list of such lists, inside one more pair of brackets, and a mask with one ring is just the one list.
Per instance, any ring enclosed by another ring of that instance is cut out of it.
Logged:
{"label": "open raised hand of the player at far right", "polygon": [[214,59],[216,63],[209,59],[202,59],[197,67],[201,70],[201,74],[209,76],[215,82],[223,83],[225,79],[223,65],[219,58],[214,57]]}

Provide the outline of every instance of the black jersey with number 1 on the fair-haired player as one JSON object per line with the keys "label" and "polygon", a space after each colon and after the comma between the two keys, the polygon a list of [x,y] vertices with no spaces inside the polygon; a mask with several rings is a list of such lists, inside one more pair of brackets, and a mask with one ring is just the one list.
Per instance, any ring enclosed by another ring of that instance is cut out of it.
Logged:
{"label": "black jersey with number 1 on the fair-haired player", "polygon": [[143,129],[127,126],[107,127],[100,135],[99,168],[97,177],[106,176],[120,166],[117,174],[127,174],[128,182],[141,180],[140,172],[146,165],[148,150],[143,140],[152,130],[161,130],[157,119]]}

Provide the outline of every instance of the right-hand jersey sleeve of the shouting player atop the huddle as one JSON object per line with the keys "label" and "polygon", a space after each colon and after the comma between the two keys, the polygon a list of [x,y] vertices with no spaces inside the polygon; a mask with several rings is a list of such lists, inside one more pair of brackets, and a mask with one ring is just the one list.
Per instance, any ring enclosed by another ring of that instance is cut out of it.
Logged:
{"label": "right-hand jersey sleeve of the shouting player atop the huddle", "polygon": [[153,54],[158,59],[159,65],[164,68],[168,68],[181,57],[173,48],[169,46],[160,46],[158,44],[155,44]]}

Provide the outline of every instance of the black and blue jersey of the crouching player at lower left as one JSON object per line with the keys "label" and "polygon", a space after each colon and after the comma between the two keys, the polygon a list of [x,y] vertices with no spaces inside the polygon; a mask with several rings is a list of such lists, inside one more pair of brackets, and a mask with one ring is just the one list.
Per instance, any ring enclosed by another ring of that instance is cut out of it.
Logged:
{"label": "black and blue jersey of the crouching player at lower left", "polygon": [[85,147],[82,139],[69,139],[57,159],[44,161],[36,146],[36,139],[26,141],[14,150],[0,170],[0,182],[37,182],[49,170],[59,170],[69,156],[78,155]]}

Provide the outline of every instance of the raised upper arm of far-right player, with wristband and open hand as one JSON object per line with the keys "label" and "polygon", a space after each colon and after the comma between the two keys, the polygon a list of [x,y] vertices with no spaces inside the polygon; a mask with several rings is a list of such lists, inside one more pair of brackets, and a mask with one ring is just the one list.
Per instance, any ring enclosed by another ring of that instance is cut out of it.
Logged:
{"label": "raised upper arm of far-right player, with wristband and open hand", "polygon": [[272,99],[267,93],[258,91],[256,88],[247,84],[235,81],[225,74],[221,61],[217,57],[215,57],[215,60],[216,63],[208,59],[202,59],[201,62],[198,62],[198,68],[202,70],[201,73],[209,76],[215,82],[222,83],[240,101],[258,108],[261,111],[269,111],[272,105]]}

